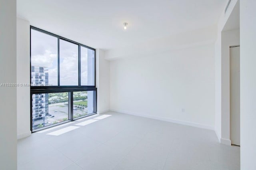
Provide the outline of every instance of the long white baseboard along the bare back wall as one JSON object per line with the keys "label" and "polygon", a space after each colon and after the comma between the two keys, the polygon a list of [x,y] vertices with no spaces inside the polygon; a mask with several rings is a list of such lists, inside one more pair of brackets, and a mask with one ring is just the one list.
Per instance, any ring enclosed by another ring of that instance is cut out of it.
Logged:
{"label": "long white baseboard along the bare back wall", "polygon": [[181,121],[181,120],[170,119],[170,118],[165,118],[165,117],[158,117],[158,116],[152,116],[152,115],[145,115],[145,114],[140,114],[140,113],[132,113],[132,112],[122,111],[122,110],[117,110],[117,109],[110,109],[110,111],[125,113],[125,114],[129,114],[129,115],[140,116],[140,117],[146,117],[146,118],[150,118],[150,119],[156,119],[156,120],[166,121],[166,122],[171,122],[171,123],[177,123],[177,124],[181,124],[181,125],[188,125],[188,126],[192,126],[192,127],[214,130],[214,126],[202,125],[202,124],[199,124],[199,123]]}

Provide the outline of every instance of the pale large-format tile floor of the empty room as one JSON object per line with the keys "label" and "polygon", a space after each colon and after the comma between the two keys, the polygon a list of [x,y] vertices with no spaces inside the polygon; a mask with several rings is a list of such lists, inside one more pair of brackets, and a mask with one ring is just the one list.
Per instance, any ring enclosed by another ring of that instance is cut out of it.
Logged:
{"label": "pale large-format tile floor of the empty room", "polygon": [[[18,140],[18,170],[239,170],[240,147],[212,130],[143,117],[112,115],[35,132]],[[85,123],[86,124],[86,123]],[[58,136],[48,133],[78,126]]]}

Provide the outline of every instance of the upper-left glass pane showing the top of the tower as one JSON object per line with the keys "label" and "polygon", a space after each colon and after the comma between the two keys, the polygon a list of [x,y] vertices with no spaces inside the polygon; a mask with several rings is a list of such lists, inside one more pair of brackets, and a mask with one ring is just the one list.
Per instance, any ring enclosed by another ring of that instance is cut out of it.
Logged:
{"label": "upper-left glass pane showing the top of the tower", "polygon": [[58,38],[31,29],[31,84],[58,85]]}

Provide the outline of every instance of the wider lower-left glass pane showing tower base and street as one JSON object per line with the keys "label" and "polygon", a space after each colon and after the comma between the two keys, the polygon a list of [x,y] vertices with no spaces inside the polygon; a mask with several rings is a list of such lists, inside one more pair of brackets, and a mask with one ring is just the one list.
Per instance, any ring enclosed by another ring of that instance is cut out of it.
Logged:
{"label": "wider lower-left glass pane showing tower base and street", "polygon": [[68,120],[68,93],[40,93],[32,95],[32,128]]}

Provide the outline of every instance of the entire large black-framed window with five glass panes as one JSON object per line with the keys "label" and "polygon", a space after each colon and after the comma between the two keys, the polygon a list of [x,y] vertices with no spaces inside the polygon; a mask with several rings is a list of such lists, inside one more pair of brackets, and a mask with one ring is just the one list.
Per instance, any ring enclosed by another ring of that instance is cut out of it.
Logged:
{"label": "entire large black-framed window with five glass panes", "polygon": [[30,27],[31,130],[96,113],[95,49]]}

